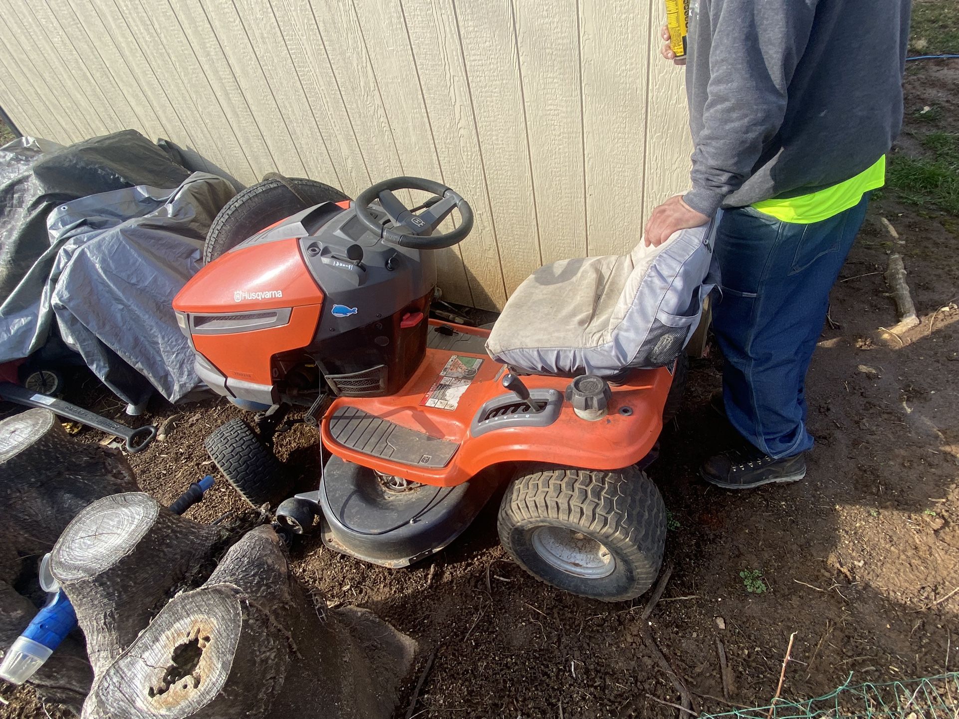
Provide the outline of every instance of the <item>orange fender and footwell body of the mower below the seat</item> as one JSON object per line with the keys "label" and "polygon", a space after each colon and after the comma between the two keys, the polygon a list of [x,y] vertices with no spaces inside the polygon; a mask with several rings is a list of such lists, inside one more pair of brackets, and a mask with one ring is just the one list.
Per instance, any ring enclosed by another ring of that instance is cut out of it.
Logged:
{"label": "orange fender and footwell body of the mower below the seat", "polygon": [[657,373],[669,370],[637,370],[611,387],[609,414],[597,432],[561,402],[567,378],[525,377],[532,400],[544,406],[528,412],[503,389],[505,367],[483,349],[488,335],[430,320],[426,357],[409,382],[391,396],[336,400],[322,422],[323,444],[346,461],[439,487],[495,464],[541,457],[615,470],[653,448],[669,387]]}

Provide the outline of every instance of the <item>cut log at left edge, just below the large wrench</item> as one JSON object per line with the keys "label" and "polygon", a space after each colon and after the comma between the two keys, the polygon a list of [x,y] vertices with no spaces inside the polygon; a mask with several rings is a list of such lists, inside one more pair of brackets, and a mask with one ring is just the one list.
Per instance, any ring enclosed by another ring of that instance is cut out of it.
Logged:
{"label": "cut log at left edge, just below the large wrench", "polygon": [[0,580],[15,581],[21,558],[33,568],[87,504],[135,489],[120,452],[74,440],[47,409],[0,422]]}

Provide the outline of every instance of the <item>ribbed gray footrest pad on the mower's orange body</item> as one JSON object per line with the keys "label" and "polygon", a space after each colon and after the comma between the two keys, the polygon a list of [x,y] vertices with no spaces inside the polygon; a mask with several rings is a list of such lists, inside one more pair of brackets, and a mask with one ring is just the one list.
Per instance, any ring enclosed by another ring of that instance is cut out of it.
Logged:
{"label": "ribbed gray footrest pad on the mower's orange body", "polygon": [[420,467],[445,467],[459,445],[447,439],[400,427],[352,406],[330,418],[330,434],[344,447],[375,457]]}

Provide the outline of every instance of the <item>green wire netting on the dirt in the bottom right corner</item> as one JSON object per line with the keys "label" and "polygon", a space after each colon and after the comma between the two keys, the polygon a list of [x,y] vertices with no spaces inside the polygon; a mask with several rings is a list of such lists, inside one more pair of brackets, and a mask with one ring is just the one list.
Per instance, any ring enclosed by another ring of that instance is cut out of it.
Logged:
{"label": "green wire netting on the dirt in the bottom right corner", "polygon": [[826,696],[802,702],[778,701],[769,706],[737,709],[721,714],[700,714],[701,719],[811,719],[850,717],[852,719],[959,719],[959,672],[886,684],[850,685],[850,674],[838,689]]}

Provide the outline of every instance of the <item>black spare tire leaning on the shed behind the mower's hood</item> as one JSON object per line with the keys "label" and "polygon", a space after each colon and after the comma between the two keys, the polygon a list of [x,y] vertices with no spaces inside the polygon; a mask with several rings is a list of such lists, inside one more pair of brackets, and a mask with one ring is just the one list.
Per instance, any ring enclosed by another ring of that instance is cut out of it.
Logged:
{"label": "black spare tire leaning on the shed behind the mower's hood", "polygon": [[223,205],[206,233],[204,263],[216,260],[264,227],[286,220],[300,210],[320,202],[349,199],[336,188],[316,180],[305,177],[287,177],[285,180],[272,178],[257,182]]}

